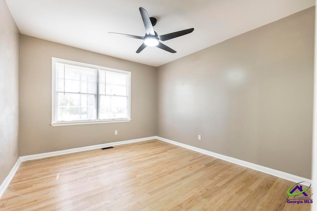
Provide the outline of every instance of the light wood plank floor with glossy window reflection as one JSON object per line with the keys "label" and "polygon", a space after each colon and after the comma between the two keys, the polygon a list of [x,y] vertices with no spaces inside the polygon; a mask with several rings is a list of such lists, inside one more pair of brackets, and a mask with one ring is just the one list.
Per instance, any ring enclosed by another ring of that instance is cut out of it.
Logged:
{"label": "light wood plank floor with glossy window reflection", "polygon": [[24,162],[0,210],[310,210],[293,184],[152,140]]}

